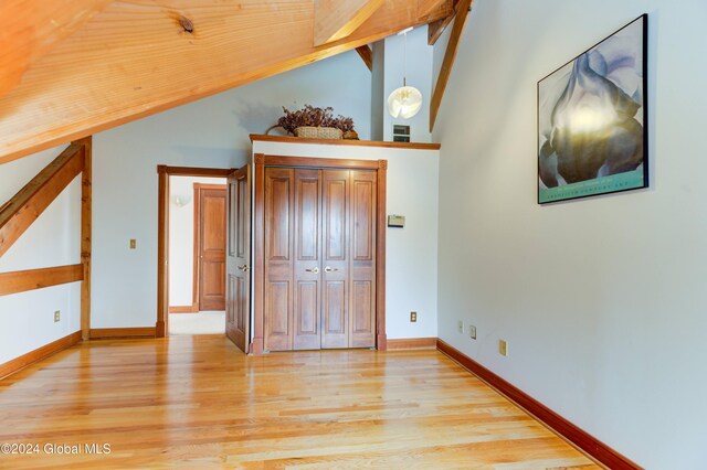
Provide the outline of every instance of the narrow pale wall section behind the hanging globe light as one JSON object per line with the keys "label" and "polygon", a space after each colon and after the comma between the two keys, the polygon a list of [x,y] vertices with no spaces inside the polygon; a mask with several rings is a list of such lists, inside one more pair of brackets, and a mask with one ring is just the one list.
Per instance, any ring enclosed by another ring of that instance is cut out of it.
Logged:
{"label": "narrow pale wall section behind the hanging globe light", "polygon": [[[430,99],[432,98],[433,47],[428,45],[428,28],[420,26],[408,33],[408,53],[404,61],[404,36],[386,38],[384,93],[383,93],[383,140],[393,140],[393,124],[410,126],[410,141],[431,142]],[[408,86],[414,86],[422,94],[422,109],[410,119],[394,119],[388,113],[388,97],[402,86],[403,74]]]}

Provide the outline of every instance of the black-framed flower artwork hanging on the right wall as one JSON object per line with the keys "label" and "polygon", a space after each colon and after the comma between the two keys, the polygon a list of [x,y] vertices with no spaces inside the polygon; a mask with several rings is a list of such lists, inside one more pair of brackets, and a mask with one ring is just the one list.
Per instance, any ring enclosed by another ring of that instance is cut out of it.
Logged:
{"label": "black-framed flower artwork hanging on the right wall", "polygon": [[538,82],[538,203],[648,185],[647,15]]}

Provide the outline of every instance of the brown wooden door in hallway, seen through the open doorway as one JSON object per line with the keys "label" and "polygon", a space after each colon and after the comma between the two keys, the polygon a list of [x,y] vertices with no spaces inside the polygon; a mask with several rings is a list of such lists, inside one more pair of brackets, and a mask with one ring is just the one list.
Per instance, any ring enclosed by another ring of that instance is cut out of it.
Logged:
{"label": "brown wooden door in hallway, seen through the open doorway", "polygon": [[199,310],[225,310],[225,188],[198,191]]}

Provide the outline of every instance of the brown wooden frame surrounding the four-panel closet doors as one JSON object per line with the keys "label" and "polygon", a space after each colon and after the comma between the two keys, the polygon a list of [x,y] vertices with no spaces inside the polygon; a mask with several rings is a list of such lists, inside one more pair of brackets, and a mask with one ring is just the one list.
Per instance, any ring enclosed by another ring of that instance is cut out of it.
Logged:
{"label": "brown wooden frame surrounding the four-panel closet doors", "polygon": [[251,353],[263,354],[265,319],[265,168],[373,170],[378,179],[376,201],[376,349],[386,351],[386,194],[388,160],[349,160],[316,157],[283,157],[255,153],[253,239],[253,342]]}

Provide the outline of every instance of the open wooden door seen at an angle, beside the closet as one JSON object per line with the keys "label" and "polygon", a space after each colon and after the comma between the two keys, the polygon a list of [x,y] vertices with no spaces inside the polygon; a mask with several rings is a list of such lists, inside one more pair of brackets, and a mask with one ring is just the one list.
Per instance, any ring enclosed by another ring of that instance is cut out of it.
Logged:
{"label": "open wooden door seen at an angle, beside the closet", "polygon": [[251,172],[245,165],[228,180],[225,335],[249,352],[251,324]]}

